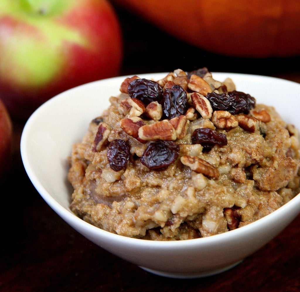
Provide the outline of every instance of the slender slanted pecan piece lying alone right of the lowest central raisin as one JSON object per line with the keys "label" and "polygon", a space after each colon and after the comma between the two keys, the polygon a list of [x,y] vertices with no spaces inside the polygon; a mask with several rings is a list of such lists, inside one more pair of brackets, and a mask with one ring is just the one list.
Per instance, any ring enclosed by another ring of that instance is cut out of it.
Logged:
{"label": "slender slanted pecan piece lying alone right of the lowest central raisin", "polygon": [[180,158],[182,164],[190,167],[191,170],[197,173],[202,173],[210,178],[219,178],[220,173],[216,167],[207,161],[195,156],[182,156]]}

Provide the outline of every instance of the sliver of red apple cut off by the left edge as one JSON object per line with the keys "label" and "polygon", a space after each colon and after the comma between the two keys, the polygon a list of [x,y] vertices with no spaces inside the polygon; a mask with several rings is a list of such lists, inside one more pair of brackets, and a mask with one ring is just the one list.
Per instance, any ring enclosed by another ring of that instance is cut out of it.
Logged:
{"label": "sliver of red apple cut off by the left edge", "polygon": [[12,159],[13,125],[10,115],[0,100],[0,181],[6,177]]}

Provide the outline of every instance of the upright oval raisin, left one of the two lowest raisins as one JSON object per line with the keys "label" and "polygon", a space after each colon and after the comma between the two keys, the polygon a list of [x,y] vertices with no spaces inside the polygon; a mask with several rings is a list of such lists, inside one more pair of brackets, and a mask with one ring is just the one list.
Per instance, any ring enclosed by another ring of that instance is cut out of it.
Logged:
{"label": "upright oval raisin, left one of the two lowest raisins", "polygon": [[115,139],[110,142],[107,148],[107,160],[110,168],[114,171],[126,169],[130,157],[130,145],[128,141]]}

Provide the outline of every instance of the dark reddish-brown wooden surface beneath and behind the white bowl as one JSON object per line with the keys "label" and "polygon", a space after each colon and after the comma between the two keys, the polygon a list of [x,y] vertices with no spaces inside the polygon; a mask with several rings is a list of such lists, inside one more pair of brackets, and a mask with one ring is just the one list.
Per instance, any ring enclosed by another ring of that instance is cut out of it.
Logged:
{"label": "dark reddish-brown wooden surface beneath and behind the white bowl", "polygon": [[[300,82],[299,57],[243,59],[205,52],[116,8],[124,35],[120,75],[207,66]],[[284,97],[283,97],[284,98]],[[298,98],[295,97],[295,98]],[[300,216],[235,268],[207,278],[152,275],[91,243],[44,202],[23,168],[14,121],[12,167],[1,182],[0,291],[299,291]]]}

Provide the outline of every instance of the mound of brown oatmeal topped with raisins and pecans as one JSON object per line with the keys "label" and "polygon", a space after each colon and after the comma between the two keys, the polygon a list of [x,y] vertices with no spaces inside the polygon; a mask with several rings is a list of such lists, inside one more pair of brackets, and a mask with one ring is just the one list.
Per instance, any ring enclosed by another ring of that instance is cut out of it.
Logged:
{"label": "mound of brown oatmeal topped with raisins and pecans", "polygon": [[150,240],[211,236],[299,192],[299,133],[207,68],[133,76],[73,145],[70,209],[104,230]]}

